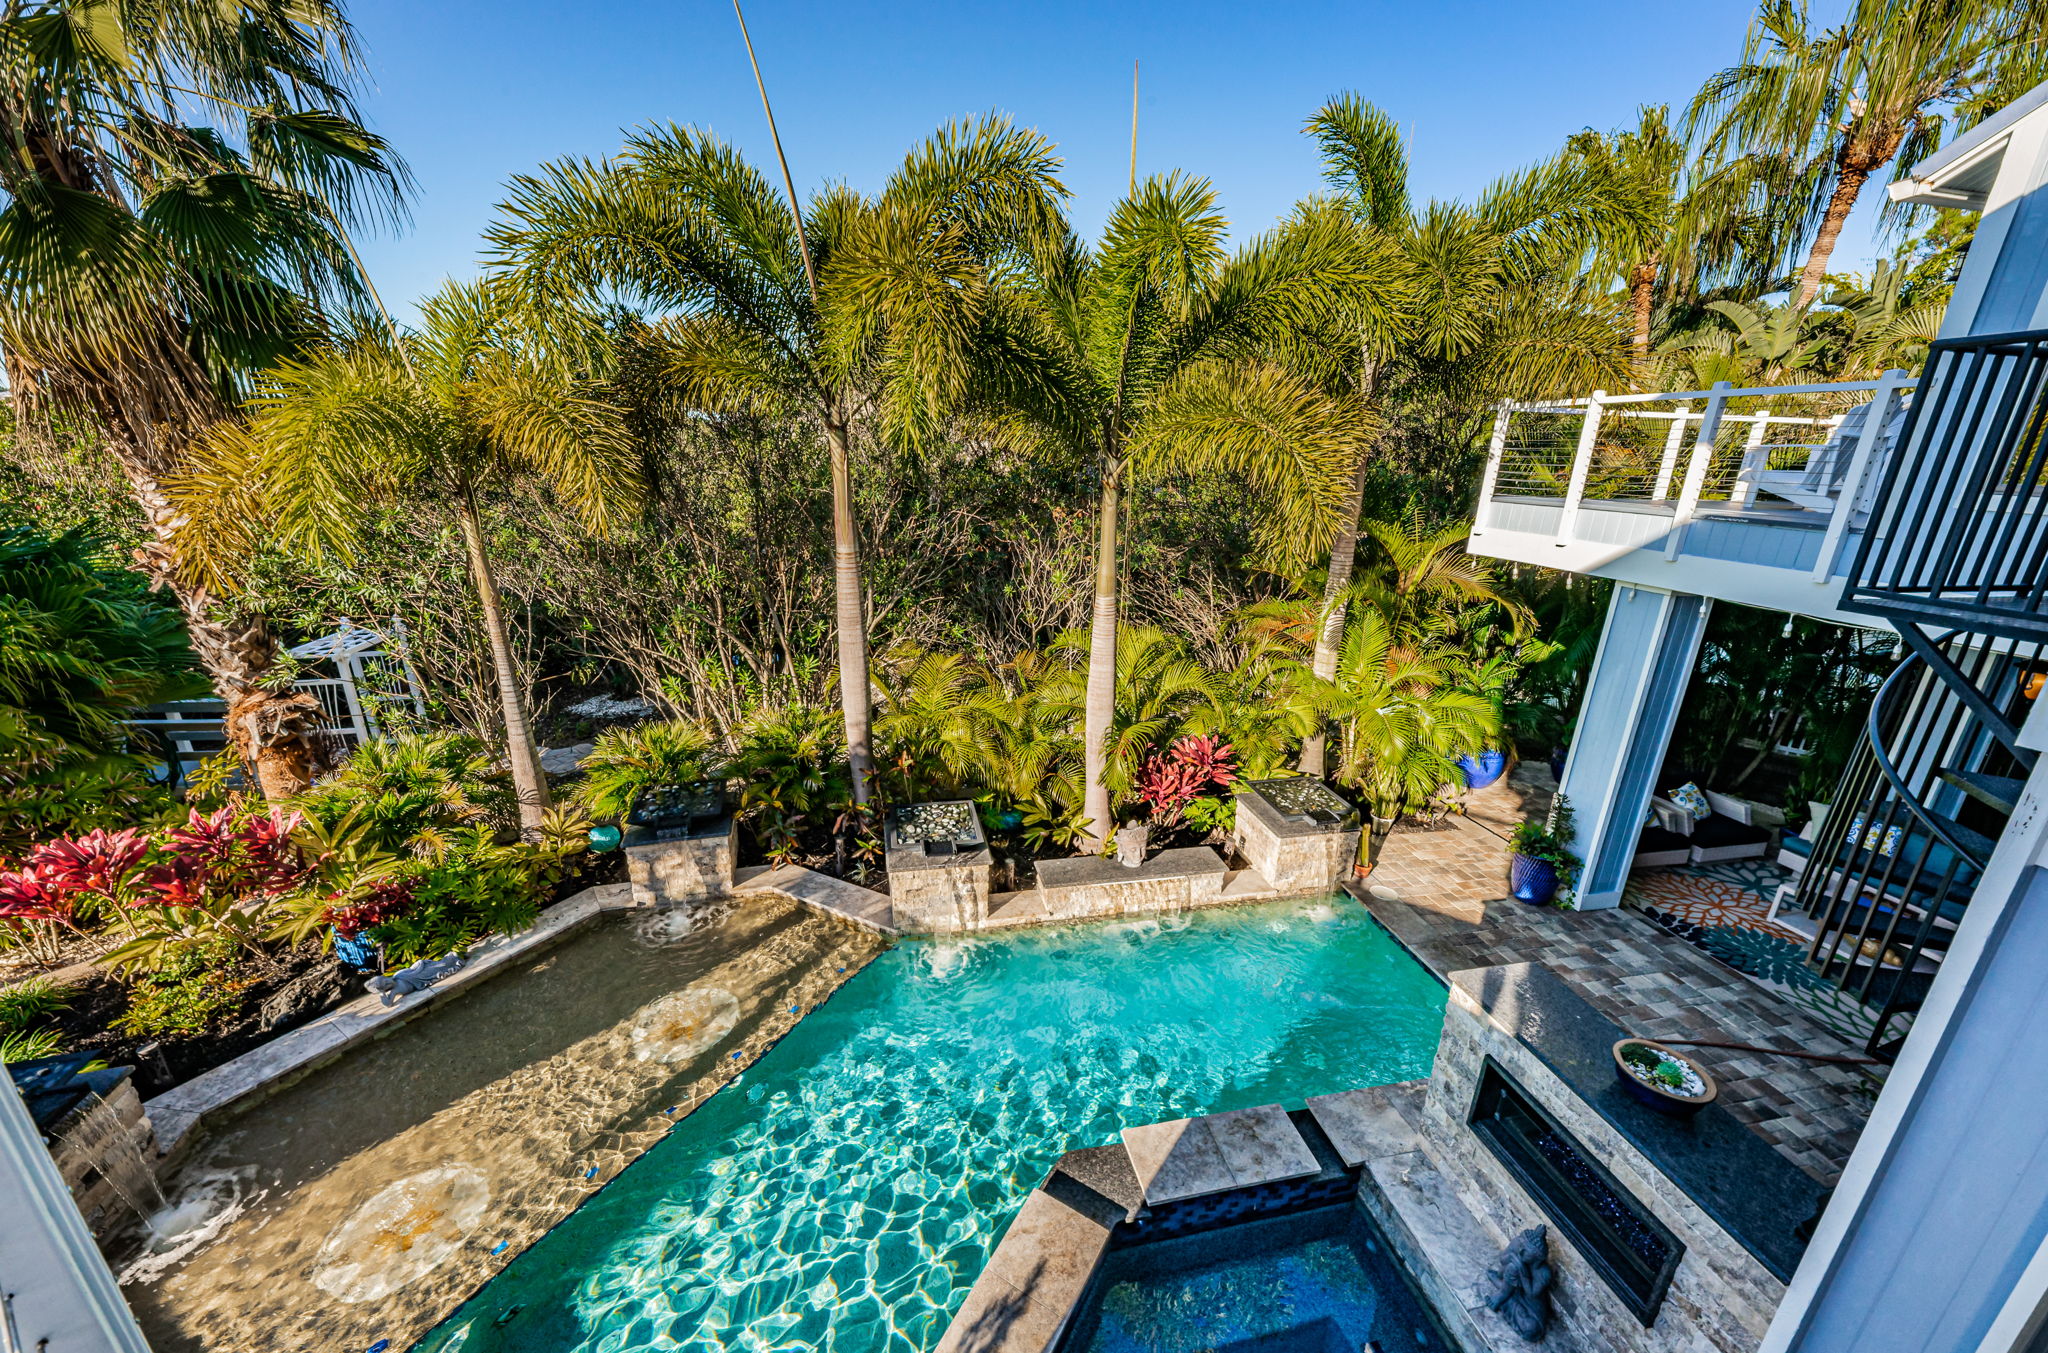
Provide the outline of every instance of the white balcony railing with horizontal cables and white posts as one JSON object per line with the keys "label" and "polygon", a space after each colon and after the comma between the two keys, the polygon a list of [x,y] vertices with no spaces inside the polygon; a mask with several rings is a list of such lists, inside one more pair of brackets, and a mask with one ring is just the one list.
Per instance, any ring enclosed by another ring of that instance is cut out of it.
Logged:
{"label": "white balcony railing with horizontal cables and white posts", "polygon": [[[1493,420],[1475,526],[1554,532],[1559,544],[1661,540],[1686,551],[1702,516],[1825,532],[1810,559],[1825,581],[1870,512],[1898,446],[1913,377],[1503,403]],[[1542,504],[1540,514],[1507,506]],[[1628,532],[1587,522],[1634,514]],[[1649,520],[1642,520],[1649,518]],[[1665,518],[1665,520],[1659,520]]]}

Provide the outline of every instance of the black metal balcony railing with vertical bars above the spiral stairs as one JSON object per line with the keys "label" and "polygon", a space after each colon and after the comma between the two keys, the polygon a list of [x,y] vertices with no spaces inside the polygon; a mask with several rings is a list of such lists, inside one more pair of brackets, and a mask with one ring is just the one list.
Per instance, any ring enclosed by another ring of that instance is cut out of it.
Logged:
{"label": "black metal balcony railing with vertical bars above the spiral stairs", "polygon": [[2048,639],[2048,330],[1927,354],[1843,606]]}

